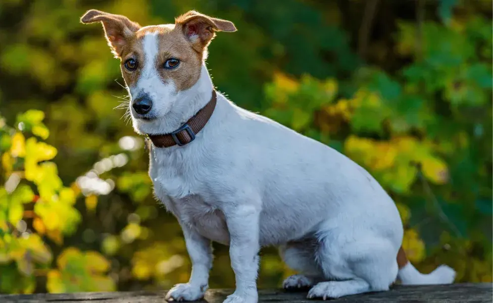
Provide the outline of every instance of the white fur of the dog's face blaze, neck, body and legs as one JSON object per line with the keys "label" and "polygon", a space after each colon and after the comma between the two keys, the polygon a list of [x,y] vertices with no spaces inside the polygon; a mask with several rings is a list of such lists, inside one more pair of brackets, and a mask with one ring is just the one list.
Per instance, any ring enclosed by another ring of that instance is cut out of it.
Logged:
{"label": "white fur of the dog's face blaze, neck, body and legs", "polygon": [[[157,119],[134,117],[133,123],[139,133],[169,133],[209,102],[213,85],[205,65],[185,91],[158,84],[150,68],[157,52],[153,39],[144,39],[149,49],[137,89],[166,98],[167,105],[156,109]],[[245,111],[220,93],[193,142],[151,147],[149,173],[156,196],[183,228],[192,262],[189,282],[171,289],[168,298],[203,296],[211,240],[230,246],[236,290],[229,303],[257,302],[258,251],[265,245],[279,245],[285,262],[306,275],[291,278],[286,287],[322,281],[309,297],[387,290],[396,280],[403,227],[378,182],[336,150]],[[423,281],[409,267],[401,273],[408,282]],[[450,282],[450,275],[442,272],[434,281]]]}

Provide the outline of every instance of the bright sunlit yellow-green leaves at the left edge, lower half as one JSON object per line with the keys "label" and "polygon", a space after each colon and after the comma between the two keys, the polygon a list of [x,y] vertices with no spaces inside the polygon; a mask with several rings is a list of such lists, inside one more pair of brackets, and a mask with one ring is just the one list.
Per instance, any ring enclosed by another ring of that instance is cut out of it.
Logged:
{"label": "bright sunlit yellow-green leaves at the left edge, lower half", "polygon": [[[47,137],[43,118],[43,112],[29,110],[18,115],[18,128]],[[46,273],[53,259],[42,236],[62,244],[62,235],[72,234],[81,218],[74,208],[76,192],[63,186],[57,165],[48,162],[57,149],[33,136],[26,140],[5,125],[2,136],[10,136],[11,144],[2,155],[7,173],[0,187],[0,285],[3,292],[32,292],[36,273]],[[28,219],[36,233],[27,231]],[[115,289],[114,281],[104,275],[109,263],[97,252],[81,255],[69,247],[58,257],[58,267],[47,272],[50,292]]]}

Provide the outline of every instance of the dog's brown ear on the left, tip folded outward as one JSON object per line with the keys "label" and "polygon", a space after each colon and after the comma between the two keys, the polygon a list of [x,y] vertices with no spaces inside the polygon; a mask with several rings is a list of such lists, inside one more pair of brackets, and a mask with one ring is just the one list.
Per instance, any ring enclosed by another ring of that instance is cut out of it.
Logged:
{"label": "dog's brown ear on the left, tip folded outward", "polygon": [[110,45],[113,54],[117,58],[121,56],[122,48],[128,43],[128,40],[140,28],[138,23],[128,20],[125,16],[109,14],[98,10],[87,11],[80,18],[80,22],[84,24],[94,22],[103,23],[108,45]]}

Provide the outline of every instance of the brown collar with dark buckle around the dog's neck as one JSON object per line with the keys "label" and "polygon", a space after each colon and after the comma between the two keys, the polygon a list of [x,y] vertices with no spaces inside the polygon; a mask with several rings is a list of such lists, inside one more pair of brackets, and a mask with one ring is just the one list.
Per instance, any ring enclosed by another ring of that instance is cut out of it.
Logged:
{"label": "brown collar with dark buckle around the dog's neck", "polygon": [[170,134],[148,135],[156,147],[170,147],[173,145],[183,146],[195,139],[195,134],[200,132],[207,121],[212,116],[216,108],[217,95],[212,91],[212,98],[209,103],[203,107],[195,116],[191,117],[185,124]]}

